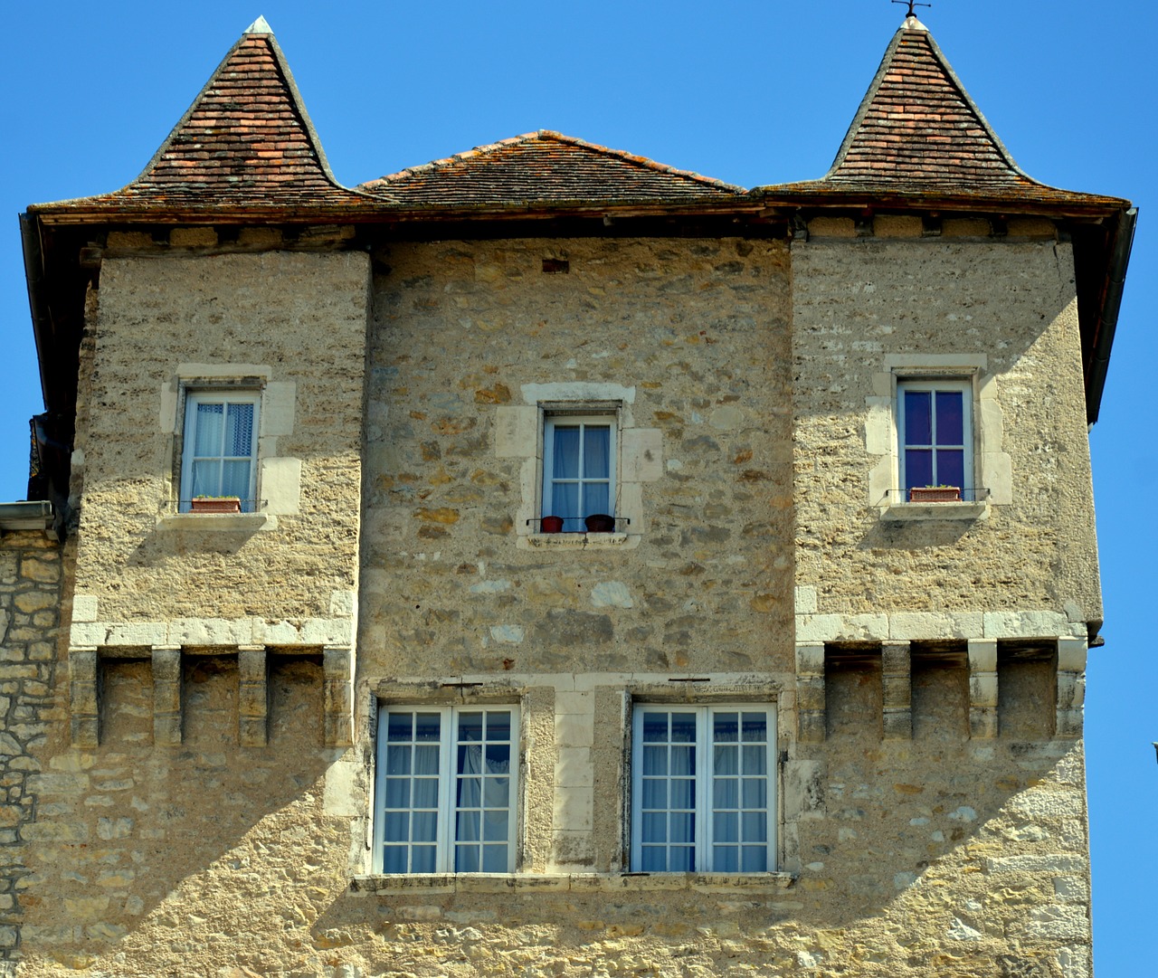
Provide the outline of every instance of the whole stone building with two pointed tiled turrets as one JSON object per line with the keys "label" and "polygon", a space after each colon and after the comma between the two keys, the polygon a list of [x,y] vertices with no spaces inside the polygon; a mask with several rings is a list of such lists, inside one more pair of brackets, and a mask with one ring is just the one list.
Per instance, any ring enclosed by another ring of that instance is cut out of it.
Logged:
{"label": "whole stone building with two pointed tiled turrets", "polygon": [[258,21],[22,216],[0,973],[1087,978],[1133,228],[914,17],[754,190],[555,132],[343,187]]}

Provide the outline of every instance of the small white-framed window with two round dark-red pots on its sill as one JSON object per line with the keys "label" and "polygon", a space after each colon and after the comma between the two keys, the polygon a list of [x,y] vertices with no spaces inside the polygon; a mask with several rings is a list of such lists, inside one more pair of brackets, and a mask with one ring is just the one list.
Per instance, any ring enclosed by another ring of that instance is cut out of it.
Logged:
{"label": "small white-framed window with two round dark-red pots on its sill", "polygon": [[586,519],[615,516],[616,424],[613,414],[548,414],[543,419],[543,517],[580,534]]}

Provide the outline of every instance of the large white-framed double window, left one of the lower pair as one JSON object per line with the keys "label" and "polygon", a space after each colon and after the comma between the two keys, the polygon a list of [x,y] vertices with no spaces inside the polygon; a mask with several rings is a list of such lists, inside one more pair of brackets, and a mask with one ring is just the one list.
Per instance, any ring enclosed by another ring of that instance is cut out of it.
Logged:
{"label": "large white-framed double window, left one of the lower pair", "polygon": [[513,873],[518,743],[515,706],[383,705],[376,872]]}

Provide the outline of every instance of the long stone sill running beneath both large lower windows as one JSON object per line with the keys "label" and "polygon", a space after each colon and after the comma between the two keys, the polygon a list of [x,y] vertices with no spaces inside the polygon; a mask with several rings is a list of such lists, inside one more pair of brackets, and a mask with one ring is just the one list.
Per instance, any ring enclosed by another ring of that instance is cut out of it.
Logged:
{"label": "long stone sill running beneath both large lower windows", "polygon": [[372,874],[354,876],[356,894],[413,892],[498,894],[636,892],[695,890],[701,892],[779,892],[791,889],[793,873],[433,873],[430,875]]}

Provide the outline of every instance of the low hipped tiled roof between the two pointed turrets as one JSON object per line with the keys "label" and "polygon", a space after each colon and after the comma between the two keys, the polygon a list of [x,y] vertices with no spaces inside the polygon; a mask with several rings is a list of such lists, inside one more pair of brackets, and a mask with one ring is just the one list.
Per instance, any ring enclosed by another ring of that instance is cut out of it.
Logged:
{"label": "low hipped tiled roof between the two pointed turrets", "polygon": [[368,183],[403,205],[727,199],[743,187],[549,130],[478,146]]}

